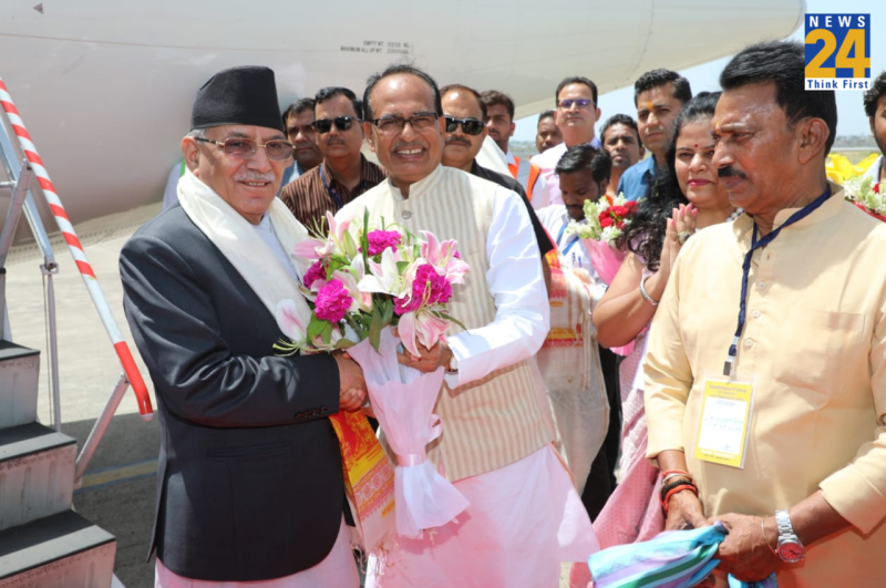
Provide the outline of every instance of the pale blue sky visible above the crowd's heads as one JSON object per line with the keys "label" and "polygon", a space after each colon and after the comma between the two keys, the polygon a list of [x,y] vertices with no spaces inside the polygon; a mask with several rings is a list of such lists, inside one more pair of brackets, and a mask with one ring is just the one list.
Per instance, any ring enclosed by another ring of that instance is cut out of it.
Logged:
{"label": "pale blue sky visible above the crowd's heads", "polygon": [[[842,13],[842,14],[870,14],[870,78],[876,78],[886,69],[886,2],[882,0],[806,0],[807,13]],[[761,14],[761,18],[763,16]],[[803,25],[790,37],[792,40],[803,42]],[[689,80],[692,92],[719,90],[718,78],[730,56],[682,70],[680,73]],[[594,79],[590,75],[591,80]],[[839,91],[837,97],[837,135],[869,135],[870,127],[865,116],[862,96],[864,91]],[[633,105],[633,86],[616,90],[600,95],[601,121],[597,124],[599,130],[602,121],[616,113],[630,114],[637,117]],[[517,120],[514,141],[535,141],[537,115]]]}

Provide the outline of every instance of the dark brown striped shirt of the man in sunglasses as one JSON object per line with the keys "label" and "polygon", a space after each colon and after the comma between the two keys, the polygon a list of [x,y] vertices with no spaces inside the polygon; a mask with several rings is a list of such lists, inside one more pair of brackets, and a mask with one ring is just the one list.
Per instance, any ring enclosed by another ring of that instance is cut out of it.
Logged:
{"label": "dark brown striped shirt of the man in sunglasses", "polygon": [[[378,186],[387,176],[384,169],[360,154],[360,182],[353,189],[340,184],[329,171],[326,161],[290,182],[284,187],[280,199],[292,210],[299,223],[313,229],[326,217],[336,214],[343,205],[370,188]],[[341,200],[336,203],[336,196]]]}

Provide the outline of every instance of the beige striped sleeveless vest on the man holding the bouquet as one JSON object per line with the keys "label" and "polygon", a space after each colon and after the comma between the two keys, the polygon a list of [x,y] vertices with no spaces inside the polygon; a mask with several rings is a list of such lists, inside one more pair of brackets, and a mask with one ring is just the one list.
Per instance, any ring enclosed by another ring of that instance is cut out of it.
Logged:
{"label": "beige striped sleeveless vest on the man holding the bouquet", "polygon": [[[399,224],[410,231],[430,230],[456,239],[471,266],[465,285],[453,286],[452,316],[468,329],[495,320],[495,303],[486,283],[486,236],[496,189],[491,182],[460,169],[440,166],[410,187],[403,199],[390,180],[346,207],[363,218]],[[360,221],[360,220],[356,220]],[[453,326],[452,332],[462,329]],[[446,478],[457,481],[514,463],[555,437],[544,392],[536,389],[527,361],[508,365],[455,390],[444,384],[434,412],[443,419],[443,435],[429,446],[429,457]],[[540,393],[539,393],[540,392]]]}

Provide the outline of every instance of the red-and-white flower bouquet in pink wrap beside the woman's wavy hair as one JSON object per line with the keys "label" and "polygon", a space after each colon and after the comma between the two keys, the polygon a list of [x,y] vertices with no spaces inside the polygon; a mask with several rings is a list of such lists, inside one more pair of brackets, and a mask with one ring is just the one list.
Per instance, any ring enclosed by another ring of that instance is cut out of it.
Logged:
{"label": "red-and-white flower bouquet in pink wrap beside the woman's wavy hair", "polygon": [[604,195],[599,200],[585,202],[585,220],[573,220],[566,227],[567,235],[577,235],[590,255],[594,269],[606,283],[612,283],[625,252],[616,248],[618,239],[637,213],[637,203],[625,194],[615,198]]}

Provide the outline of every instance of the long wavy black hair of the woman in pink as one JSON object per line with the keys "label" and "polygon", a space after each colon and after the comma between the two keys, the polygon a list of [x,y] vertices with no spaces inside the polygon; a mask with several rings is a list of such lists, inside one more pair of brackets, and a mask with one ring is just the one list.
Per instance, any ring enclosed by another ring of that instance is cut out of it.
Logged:
{"label": "long wavy black hair of the woman in pink", "polygon": [[677,182],[674,161],[677,158],[677,137],[688,123],[710,118],[717,110],[721,92],[699,92],[677,116],[673,135],[666,155],[667,168],[658,169],[650,193],[640,200],[637,215],[616,245],[640,256],[649,271],[658,271],[661,248],[671,210],[681,204],[689,204],[680,184]]}

